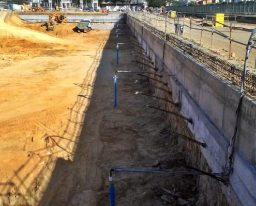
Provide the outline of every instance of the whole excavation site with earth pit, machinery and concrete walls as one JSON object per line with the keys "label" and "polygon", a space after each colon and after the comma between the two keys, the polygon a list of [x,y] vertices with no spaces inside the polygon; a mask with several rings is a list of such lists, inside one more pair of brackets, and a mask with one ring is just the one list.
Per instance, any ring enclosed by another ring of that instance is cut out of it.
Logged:
{"label": "whole excavation site with earth pit, machinery and concrete walls", "polygon": [[0,205],[256,205],[255,25],[154,15],[0,11]]}

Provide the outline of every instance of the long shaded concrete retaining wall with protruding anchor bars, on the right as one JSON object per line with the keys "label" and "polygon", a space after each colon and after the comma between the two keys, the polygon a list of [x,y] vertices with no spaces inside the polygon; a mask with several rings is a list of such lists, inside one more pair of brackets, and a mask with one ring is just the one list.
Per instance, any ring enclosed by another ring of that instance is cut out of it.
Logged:
{"label": "long shaded concrete retaining wall with protruding anchor bars, on the right", "polygon": [[[239,100],[237,88],[172,45],[164,46],[162,39],[142,28],[129,15],[127,24],[158,70],[163,70],[163,74],[175,74],[165,76],[163,80],[168,82],[173,100],[181,99],[180,113],[193,119],[193,124],[188,123],[188,127],[195,139],[207,144],[201,151],[208,165],[214,173],[221,173],[234,133]],[[255,118],[256,99],[245,97],[236,139],[234,170],[229,184],[221,187],[230,205],[256,205]]]}

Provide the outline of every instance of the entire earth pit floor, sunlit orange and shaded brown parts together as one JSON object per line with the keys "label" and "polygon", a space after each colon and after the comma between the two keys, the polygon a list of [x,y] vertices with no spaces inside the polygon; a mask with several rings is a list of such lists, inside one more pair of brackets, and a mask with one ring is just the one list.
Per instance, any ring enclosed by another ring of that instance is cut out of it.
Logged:
{"label": "entire earth pit floor, sunlit orange and shaded brown parts together", "polygon": [[[115,70],[141,70],[132,36],[121,37],[131,45],[120,48],[117,67],[115,32],[75,33],[66,24],[45,33],[0,15],[0,205],[109,205],[110,167],[185,170],[178,166],[188,161],[185,148],[159,135],[164,114],[145,107],[157,99],[133,94],[152,93],[134,84],[137,75],[118,76],[113,108]],[[212,192],[200,198],[190,175],[120,173],[114,180],[116,205],[218,202]]]}

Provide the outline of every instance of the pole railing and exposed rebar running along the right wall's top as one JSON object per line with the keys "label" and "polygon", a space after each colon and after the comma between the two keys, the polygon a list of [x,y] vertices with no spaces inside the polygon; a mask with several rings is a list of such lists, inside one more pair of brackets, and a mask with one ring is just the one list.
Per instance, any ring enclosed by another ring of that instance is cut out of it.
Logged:
{"label": "pole railing and exposed rebar running along the right wall's top", "polygon": [[[200,30],[201,31],[201,45],[202,45],[202,32],[212,33],[212,50],[214,42],[214,34],[224,37],[229,42],[229,55],[231,55],[231,44],[232,42],[244,45],[244,42],[237,41],[232,38],[232,30],[243,30],[250,32],[252,29],[242,28],[242,27],[232,27],[232,25],[224,25],[224,27],[219,28],[229,28],[227,35],[227,30],[223,31],[221,29],[214,28],[216,21],[210,21],[208,28],[205,26],[204,20],[194,20],[190,18],[189,23],[185,22],[185,18],[166,18],[164,15],[156,15],[152,13],[139,12],[139,11],[130,11],[128,13],[130,20],[141,24],[146,27],[149,31],[155,33],[162,39],[165,39],[166,42],[171,43],[172,45],[177,46],[182,49],[186,54],[193,57],[198,62],[206,65],[210,70],[213,70],[220,74],[221,76],[227,78],[227,80],[232,81],[236,85],[240,85],[240,81],[243,74],[243,64],[238,62],[229,61],[228,58],[222,57],[220,55],[212,53],[209,49],[195,45],[193,42],[184,40],[183,32],[177,33],[175,30],[175,25],[183,26],[183,28],[189,28],[189,39],[191,39],[191,30]],[[128,19],[129,21],[129,19]],[[217,22],[220,23],[220,22]],[[210,27],[210,28],[209,28]],[[253,47],[255,49],[255,47]],[[253,70],[247,72],[247,78],[245,81],[245,89],[256,93],[256,73]]]}

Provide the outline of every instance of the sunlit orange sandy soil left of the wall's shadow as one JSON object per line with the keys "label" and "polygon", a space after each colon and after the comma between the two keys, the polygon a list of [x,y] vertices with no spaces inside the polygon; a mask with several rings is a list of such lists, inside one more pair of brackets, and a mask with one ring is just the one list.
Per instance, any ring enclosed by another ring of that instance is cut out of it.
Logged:
{"label": "sunlit orange sandy soil left of the wall's shadow", "polygon": [[88,105],[81,95],[92,93],[109,31],[52,37],[5,16],[0,13],[0,204],[34,205],[47,182],[37,178],[51,175],[42,171],[57,157],[73,159]]}

